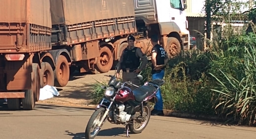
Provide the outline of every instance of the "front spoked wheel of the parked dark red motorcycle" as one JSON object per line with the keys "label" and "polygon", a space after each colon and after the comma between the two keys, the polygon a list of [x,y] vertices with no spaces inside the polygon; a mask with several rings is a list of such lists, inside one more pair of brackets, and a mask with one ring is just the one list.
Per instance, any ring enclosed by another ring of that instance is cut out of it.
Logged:
{"label": "front spoked wheel of the parked dark red motorcycle", "polygon": [[99,133],[100,127],[98,127],[98,123],[103,117],[105,112],[104,108],[99,108],[96,110],[90,117],[87,126],[85,128],[85,139],[94,139]]}

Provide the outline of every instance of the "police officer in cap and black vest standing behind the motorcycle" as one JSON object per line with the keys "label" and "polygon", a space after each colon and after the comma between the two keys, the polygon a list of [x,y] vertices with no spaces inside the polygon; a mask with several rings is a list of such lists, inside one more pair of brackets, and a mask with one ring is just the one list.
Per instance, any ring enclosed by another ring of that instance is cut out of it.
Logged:
{"label": "police officer in cap and black vest standing behind the motorcycle", "polygon": [[[127,38],[128,46],[122,52],[118,62],[116,77],[119,78],[119,72],[122,70],[123,82],[131,81],[135,85],[140,85],[140,81],[136,76],[146,67],[148,60],[141,49],[134,46],[134,41],[135,38],[132,35]],[[141,64],[140,59],[142,61]],[[135,88],[131,87],[131,89],[133,90]]]}

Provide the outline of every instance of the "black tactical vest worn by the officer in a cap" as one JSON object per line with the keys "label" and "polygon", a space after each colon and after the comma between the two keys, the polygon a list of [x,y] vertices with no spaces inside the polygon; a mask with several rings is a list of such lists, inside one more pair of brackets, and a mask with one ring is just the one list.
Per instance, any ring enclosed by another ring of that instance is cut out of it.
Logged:
{"label": "black tactical vest worn by the officer in a cap", "polygon": [[123,62],[121,63],[121,69],[136,70],[140,67],[140,58],[136,57],[136,50],[138,47],[134,47],[132,50],[124,49]]}

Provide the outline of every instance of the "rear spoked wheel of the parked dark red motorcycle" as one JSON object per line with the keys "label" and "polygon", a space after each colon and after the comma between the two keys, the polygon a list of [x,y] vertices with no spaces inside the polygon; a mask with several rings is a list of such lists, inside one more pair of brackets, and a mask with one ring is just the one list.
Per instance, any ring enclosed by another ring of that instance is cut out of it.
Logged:
{"label": "rear spoked wheel of the parked dark red motorcycle", "polygon": [[[146,112],[144,110],[146,110]],[[129,130],[132,134],[141,133],[146,128],[146,126],[148,125],[150,115],[151,115],[151,109],[150,109],[149,104],[147,104],[146,106],[143,106],[143,113],[146,114],[146,116],[144,116],[146,118],[146,120],[143,123],[139,122],[141,124],[141,126],[139,126],[138,128],[134,127],[135,124],[138,124],[138,122],[135,121],[135,120],[133,121],[133,125],[128,125]]]}

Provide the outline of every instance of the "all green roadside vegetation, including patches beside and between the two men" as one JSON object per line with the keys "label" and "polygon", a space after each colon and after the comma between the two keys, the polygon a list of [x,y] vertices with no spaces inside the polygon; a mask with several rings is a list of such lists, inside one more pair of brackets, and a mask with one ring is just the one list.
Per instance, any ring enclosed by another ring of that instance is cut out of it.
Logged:
{"label": "all green roadside vegetation, including patches beside and between the two men", "polygon": [[[256,10],[249,12],[255,23]],[[190,50],[171,59],[162,86],[165,109],[217,115],[228,122],[256,125],[256,29],[225,34],[207,41],[204,52]],[[245,29],[246,30],[246,29]],[[151,68],[142,71],[151,79]],[[92,103],[103,95],[100,83],[93,86]]]}

